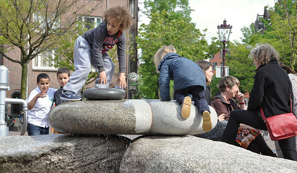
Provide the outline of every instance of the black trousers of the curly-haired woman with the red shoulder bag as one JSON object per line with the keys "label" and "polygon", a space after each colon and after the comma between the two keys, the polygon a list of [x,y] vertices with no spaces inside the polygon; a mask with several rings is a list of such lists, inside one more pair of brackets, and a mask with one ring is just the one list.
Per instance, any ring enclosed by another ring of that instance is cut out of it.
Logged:
{"label": "black trousers of the curly-haired woman with the red shoulder bag", "polygon": [[[255,129],[267,130],[265,123],[261,118],[261,114],[258,111],[234,110],[230,113],[227,127],[222,136],[222,141],[236,145],[235,138],[241,123]],[[279,145],[285,159],[297,161],[295,136],[289,139],[279,140]]]}

